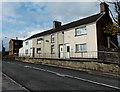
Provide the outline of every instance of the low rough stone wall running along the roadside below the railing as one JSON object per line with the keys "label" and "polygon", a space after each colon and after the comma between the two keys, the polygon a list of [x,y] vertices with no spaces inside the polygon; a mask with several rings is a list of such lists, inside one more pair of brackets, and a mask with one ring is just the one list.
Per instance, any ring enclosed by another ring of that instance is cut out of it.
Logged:
{"label": "low rough stone wall running along the roadside below the railing", "polygon": [[56,65],[59,67],[66,67],[76,70],[94,70],[101,72],[108,72],[114,74],[120,74],[119,65],[105,64],[95,61],[67,61],[67,60],[49,60],[49,59],[33,59],[33,58],[16,58],[16,60],[25,62],[34,62],[48,65]]}

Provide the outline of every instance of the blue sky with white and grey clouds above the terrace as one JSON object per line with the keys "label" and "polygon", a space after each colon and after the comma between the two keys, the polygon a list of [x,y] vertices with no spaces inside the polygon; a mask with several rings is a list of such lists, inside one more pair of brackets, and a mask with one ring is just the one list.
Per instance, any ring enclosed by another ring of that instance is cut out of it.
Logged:
{"label": "blue sky with white and grey clouds above the terrace", "polygon": [[[53,28],[53,21],[66,24],[100,12],[100,2],[2,2],[0,3],[3,45],[11,38],[26,39]],[[1,42],[1,41],[0,41]]]}

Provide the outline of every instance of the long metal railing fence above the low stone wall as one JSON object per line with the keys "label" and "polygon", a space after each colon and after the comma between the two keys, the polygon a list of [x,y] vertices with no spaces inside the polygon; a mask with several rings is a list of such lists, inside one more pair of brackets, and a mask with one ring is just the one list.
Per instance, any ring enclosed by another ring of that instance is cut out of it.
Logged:
{"label": "long metal railing fence above the low stone wall", "polygon": [[120,62],[120,52],[105,52],[105,51],[86,51],[86,52],[71,52],[71,53],[20,53],[19,57],[34,57],[34,58],[69,58],[69,59],[100,59],[107,61]]}

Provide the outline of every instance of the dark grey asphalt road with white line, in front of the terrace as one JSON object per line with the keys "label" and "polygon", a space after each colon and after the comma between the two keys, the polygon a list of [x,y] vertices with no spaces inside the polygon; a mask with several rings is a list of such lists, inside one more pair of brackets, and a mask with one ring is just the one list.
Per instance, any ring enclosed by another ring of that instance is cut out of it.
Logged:
{"label": "dark grey asphalt road with white line, in front of the terrace", "polygon": [[119,79],[19,61],[3,61],[2,72],[27,90],[112,90]]}

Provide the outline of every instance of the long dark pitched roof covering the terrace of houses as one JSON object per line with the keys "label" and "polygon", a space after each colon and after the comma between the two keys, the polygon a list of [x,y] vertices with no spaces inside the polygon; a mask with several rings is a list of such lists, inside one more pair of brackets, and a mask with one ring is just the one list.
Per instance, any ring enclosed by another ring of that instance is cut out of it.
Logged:
{"label": "long dark pitched roof covering the terrace of houses", "polygon": [[98,13],[98,14],[95,14],[95,15],[77,20],[77,21],[73,21],[71,23],[62,25],[59,28],[50,29],[50,30],[47,30],[47,31],[44,31],[44,32],[41,32],[41,33],[34,34],[31,37],[27,38],[26,40],[36,38],[36,37],[40,37],[40,36],[44,36],[44,35],[51,34],[51,33],[55,33],[55,32],[59,32],[59,31],[66,30],[66,29],[69,29],[69,28],[74,28],[74,27],[77,27],[77,26],[80,26],[80,25],[92,23],[92,22],[95,22],[97,19],[99,19],[102,15],[103,15],[103,13]]}

